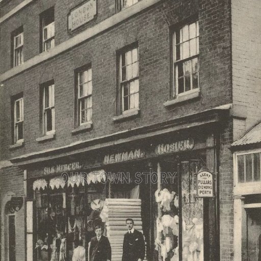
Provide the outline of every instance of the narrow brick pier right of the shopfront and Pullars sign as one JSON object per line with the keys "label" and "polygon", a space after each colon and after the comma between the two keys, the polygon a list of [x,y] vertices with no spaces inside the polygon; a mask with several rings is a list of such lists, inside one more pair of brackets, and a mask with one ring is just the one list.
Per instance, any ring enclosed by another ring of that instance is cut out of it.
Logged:
{"label": "narrow brick pier right of the shopfront and Pullars sign", "polygon": [[233,260],[233,139],[232,120],[223,122],[220,137],[219,202],[220,202],[220,260]]}

